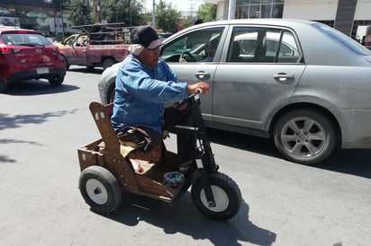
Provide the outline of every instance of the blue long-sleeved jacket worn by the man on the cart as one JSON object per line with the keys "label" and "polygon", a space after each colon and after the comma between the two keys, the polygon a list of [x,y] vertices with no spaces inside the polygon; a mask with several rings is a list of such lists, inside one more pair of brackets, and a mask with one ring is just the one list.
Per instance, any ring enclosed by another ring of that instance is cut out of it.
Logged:
{"label": "blue long-sleeved jacket worn by the man on the cart", "polygon": [[117,132],[125,127],[151,127],[162,133],[164,103],[185,99],[187,83],[180,83],[161,58],[152,70],[129,55],[119,67],[115,83],[112,124]]}

